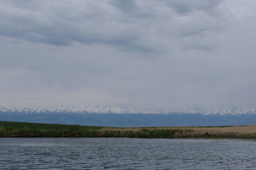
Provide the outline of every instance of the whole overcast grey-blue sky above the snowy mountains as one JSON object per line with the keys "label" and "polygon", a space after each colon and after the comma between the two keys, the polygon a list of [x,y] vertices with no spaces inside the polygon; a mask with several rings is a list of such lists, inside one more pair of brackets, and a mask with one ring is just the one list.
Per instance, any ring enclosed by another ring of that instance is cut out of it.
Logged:
{"label": "whole overcast grey-blue sky above the snowy mountains", "polygon": [[0,0],[0,106],[256,109],[255,0]]}

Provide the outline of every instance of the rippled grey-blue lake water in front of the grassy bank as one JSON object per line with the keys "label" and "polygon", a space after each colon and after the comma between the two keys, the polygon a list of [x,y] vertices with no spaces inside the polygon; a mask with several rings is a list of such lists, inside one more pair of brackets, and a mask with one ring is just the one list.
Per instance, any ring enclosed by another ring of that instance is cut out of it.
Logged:
{"label": "rippled grey-blue lake water in front of the grassy bank", "polygon": [[0,169],[256,170],[256,142],[228,139],[0,138]]}

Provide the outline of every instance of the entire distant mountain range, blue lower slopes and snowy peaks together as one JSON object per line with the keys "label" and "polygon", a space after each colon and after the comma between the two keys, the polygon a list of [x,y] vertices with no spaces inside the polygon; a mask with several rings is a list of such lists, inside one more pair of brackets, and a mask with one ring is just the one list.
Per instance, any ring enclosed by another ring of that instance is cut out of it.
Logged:
{"label": "entire distant mountain range, blue lower slopes and snowy peaks together", "polygon": [[233,126],[256,124],[256,111],[239,108],[204,110],[134,110],[109,106],[0,107],[0,120],[109,127]]}

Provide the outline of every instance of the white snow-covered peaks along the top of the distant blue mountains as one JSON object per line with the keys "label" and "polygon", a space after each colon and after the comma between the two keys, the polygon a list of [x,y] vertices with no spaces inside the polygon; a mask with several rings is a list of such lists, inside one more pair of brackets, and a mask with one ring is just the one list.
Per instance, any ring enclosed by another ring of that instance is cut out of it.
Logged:
{"label": "white snow-covered peaks along the top of the distant blue mountains", "polygon": [[186,108],[180,110],[136,110],[136,109],[123,109],[119,107],[110,106],[55,106],[55,107],[37,107],[37,108],[12,108],[0,107],[2,113],[144,113],[144,114],[195,114],[199,113],[202,115],[251,115],[256,114],[256,110],[250,109],[239,109],[224,107],[215,110],[205,110],[200,108]]}

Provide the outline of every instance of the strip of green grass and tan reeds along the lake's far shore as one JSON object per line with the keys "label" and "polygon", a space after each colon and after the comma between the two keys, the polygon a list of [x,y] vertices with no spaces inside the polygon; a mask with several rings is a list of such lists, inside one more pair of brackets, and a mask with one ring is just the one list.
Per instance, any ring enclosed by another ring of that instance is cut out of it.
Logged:
{"label": "strip of green grass and tan reeds along the lake's far shore", "polygon": [[122,128],[0,121],[0,137],[256,138],[256,125]]}

